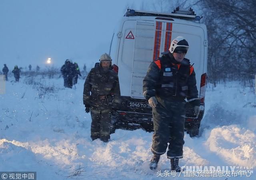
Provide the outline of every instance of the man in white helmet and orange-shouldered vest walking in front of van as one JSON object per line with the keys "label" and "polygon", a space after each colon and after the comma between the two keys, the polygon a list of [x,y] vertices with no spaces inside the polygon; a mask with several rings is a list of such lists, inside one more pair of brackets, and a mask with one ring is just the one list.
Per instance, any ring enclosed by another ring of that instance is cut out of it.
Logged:
{"label": "man in white helmet and orange-shouldered vest walking in front of van", "polygon": [[179,158],[183,158],[185,98],[199,114],[200,100],[196,88],[196,74],[185,57],[188,42],[176,37],[169,52],[153,61],[143,80],[143,94],[152,107],[154,134],[150,169],[157,167],[160,155],[166,152],[171,161],[171,170],[180,172]]}

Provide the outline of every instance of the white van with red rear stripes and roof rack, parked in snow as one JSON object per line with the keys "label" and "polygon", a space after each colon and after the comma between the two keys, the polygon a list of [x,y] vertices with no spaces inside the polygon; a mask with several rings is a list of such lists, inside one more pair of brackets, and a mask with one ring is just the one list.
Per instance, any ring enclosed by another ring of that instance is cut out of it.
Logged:
{"label": "white van with red rear stripes and roof rack, parked in snow", "polygon": [[148,130],[153,128],[152,109],[142,92],[143,79],[150,63],[168,51],[177,36],[188,41],[186,58],[196,72],[201,100],[197,118],[190,115],[192,108],[187,107],[185,130],[190,136],[198,135],[204,114],[208,40],[206,26],[191,8],[188,11],[176,8],[170,14],[131,9],[125,13],[117,32],[117,49],[112,62],[118,67],[123,102],[117,111],[119,122],[139,123]]}

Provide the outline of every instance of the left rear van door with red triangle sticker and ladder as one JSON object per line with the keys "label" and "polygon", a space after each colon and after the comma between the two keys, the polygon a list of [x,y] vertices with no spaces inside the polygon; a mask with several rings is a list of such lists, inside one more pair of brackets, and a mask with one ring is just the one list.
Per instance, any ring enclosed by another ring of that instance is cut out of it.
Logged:
{"label": "left rear van door with red triangle sticker and ladder", "polygon": [[127,20],[122,26],[117,65],[121,96],[144,99],[142,83],[152,62],[154,21]]}

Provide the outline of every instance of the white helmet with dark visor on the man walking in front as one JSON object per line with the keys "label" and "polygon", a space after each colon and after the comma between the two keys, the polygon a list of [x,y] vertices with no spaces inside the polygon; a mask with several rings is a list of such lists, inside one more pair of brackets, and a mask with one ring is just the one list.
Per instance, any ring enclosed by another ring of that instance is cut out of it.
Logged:
{"label": "white helmet with dark visor on the man walking in front", "polygon": [[186,41],[186,39],[184,39],[184,37],[182,36],[178,36],[175,39],[173,39],[169,51],[171,53],[176,53],[175,51],[180,51],[182,53],[187,53],[188,52],[188,42]]}

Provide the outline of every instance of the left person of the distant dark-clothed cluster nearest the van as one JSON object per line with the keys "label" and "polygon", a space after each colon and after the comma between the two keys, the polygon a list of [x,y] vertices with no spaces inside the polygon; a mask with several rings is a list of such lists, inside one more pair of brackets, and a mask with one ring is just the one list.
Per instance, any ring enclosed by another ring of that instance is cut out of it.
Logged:
{"label": "left person of the distant dark-clothed cluster nearest the van", "polygon": [[65,64],[60,68],[60,72],[64,78],[64,87],[72,88],[73,86],[73,66],[69,59],[66,59]]}

